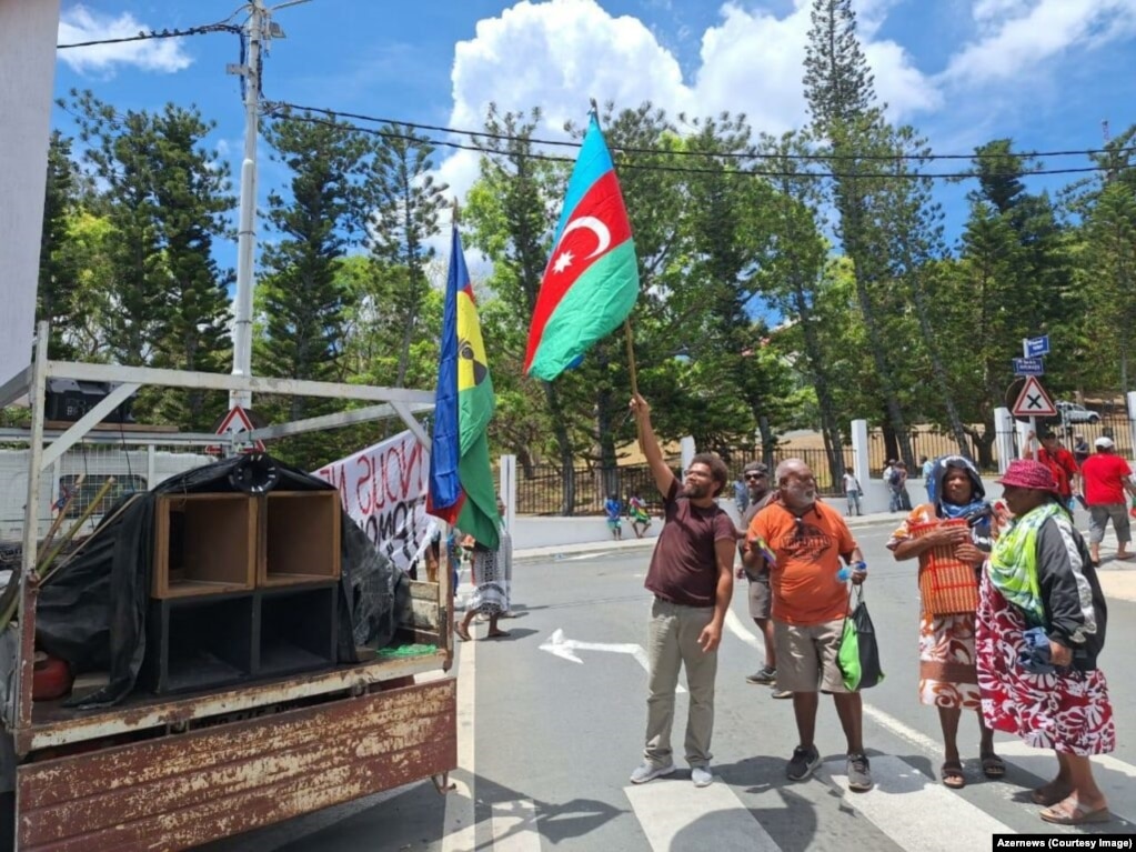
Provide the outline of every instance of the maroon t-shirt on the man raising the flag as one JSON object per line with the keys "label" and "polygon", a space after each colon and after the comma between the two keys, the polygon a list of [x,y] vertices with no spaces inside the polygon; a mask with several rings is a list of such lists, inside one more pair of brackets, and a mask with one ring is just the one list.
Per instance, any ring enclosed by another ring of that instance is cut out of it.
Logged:
{"label": "maroon t-shirt on the man raising the flag", "polygon": [[734,542],[734,523],[718,506],[702,509],[678,495],[678,481],[662,503],[663,525],[643,584],[665,601],[712,607],[718,593],[715,542]]}

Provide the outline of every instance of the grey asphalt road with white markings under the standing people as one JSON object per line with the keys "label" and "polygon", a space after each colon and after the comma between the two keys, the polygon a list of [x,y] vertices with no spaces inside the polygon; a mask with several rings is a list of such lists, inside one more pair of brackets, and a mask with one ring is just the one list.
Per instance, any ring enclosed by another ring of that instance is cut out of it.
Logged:
{"label": "grey asphalt road with white markings under the standing people", "polygon": [[[824,770],[803,784],[786,780],[785,761],[796,744],[792,707],[744,680],[760,660],[744,580],[719,655],[716,783],[695,790],[682,767],[670,778],[632,787],[627,776],[640,761],[645,720],[646,676],[635,649],[646,638],[650,596],[642,584],[650,551],[601,551],[518,563],[513,599],[521,617],[502,623],[512,635],[461,645],[459,730],[474,736],[462,736],[459,746],[457,793],[442,799],[428,783],[412,785],[209,850],[960,850],[988,849],[995,832],[1085,830],[1043,824],[1026,799],[1054,771],[1050,753],[1000,735],[1006,778],[982,778],[974,718],[963,719],[960,733],[969,784],[954,792],[937,783],[937,715],[916,699],[916,563],[897,563],[884,549],[889,529],[888,523],[855,531],[887,673],[864,693],[864,743],[877,784],[871,793],[843,786],[843,735],[824,699],[817,727]],[[475,635],[484,630],[477,625]],[[1099,760],[1097,778],[1120,819],[1092,830],[1136,830],[1133,648],[1136,603],[1112,600],[1102,668],[1120,742]],[[679,757],[685,707],[679,695]]]}

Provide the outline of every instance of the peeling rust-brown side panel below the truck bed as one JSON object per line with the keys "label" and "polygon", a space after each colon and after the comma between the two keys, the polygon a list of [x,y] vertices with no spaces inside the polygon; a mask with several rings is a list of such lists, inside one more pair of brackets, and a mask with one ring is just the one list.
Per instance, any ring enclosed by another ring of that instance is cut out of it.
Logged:
{"label": "peeling rust-brown side panel below the truck bed", "polygon": [[445,678],[25,765],[19,849],[186,849],[450,771],[456,700]]}

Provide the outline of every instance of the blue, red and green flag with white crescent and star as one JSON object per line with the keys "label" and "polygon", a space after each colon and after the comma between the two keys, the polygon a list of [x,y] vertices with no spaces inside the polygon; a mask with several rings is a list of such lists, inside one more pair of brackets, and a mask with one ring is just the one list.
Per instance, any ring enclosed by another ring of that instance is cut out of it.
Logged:
{"label": "blue, red and green flag with white crescent and star", "polygon": [[627,208],[595,114],[568,182],[541,278],[525,373],[551,382],[635,307],[638,265]]}

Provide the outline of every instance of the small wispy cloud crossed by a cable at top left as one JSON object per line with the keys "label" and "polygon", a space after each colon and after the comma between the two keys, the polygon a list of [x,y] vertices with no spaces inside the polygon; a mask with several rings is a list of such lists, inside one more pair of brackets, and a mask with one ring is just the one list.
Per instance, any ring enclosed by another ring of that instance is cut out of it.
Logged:
{"label": "small wispy cloud crossed by a cable at top left", "polygon": [[[118,17],[100,15],[85,6],[64,10],[59,18],[59,44],[76,44],[103,39],[125,39],[149,31],[130,12]],[[192,59],[182,50],[181,39],[151,39],[119,44],[94,44],[58,52],[77,74],[111,75],[119,66],[172,74],[189,67]]]}

